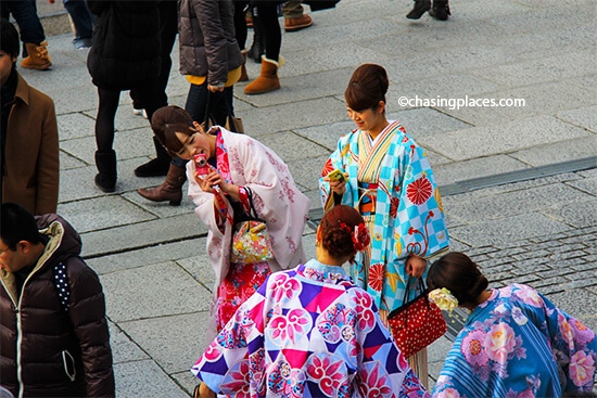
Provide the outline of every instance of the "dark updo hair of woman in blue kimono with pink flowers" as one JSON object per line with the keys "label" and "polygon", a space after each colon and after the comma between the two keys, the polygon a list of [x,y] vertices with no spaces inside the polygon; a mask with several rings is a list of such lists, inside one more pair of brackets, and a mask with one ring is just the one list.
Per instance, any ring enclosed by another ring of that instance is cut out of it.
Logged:
{"label": "dark updo hair of woman in blue kimono with pink flowers", "polygon": [[477,299],[490,282],[479,266],[466,254],[452,252],[433,262],[427,274],[430,290],[446,287],[458,299],[459,305],[477,305]]}

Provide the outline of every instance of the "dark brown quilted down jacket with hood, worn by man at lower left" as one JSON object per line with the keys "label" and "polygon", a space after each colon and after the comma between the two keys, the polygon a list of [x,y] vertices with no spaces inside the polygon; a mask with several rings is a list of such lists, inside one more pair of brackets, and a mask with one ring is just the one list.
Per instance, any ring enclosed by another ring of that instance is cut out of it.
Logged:
{"label": "dark brown quilted down jacket with hood, worn by man at lower left", "polygon": [[[50,241],[16,295],[0,269],[0,381],[15,397],[114,397],[105,301],[96,272],[78,257],[79,234],[54,214],[38,219]],[[69,308],[54,268],[66,266]]]}

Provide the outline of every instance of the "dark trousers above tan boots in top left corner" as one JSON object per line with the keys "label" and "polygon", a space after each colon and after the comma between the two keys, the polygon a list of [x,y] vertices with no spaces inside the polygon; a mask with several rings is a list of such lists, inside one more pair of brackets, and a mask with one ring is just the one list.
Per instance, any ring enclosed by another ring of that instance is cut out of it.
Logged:
{"label": "dark trousers above tan boots in top left corner", "polygon": [[[0,16],[9,20],[9,16],[12,15],[16,21],[21,33],[21,41],[39,46],[46,40],[43,26],[41,26],[39,16],[37,16],[35,0],[1,1],[0,4]],[[25,57],[26,53],[23,56]]]}

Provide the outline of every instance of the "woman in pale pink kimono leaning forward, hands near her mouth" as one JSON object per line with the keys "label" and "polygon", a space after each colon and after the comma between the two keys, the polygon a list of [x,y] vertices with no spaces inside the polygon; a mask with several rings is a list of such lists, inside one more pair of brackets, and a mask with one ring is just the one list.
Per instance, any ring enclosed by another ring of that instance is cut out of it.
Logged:
{"label": "woman in pale pink kimono leaning forward, hands near her mouth", "polygon": [[[207,255],[216,281],[209,337],[219,332],[236,309],[262,285],[270,272],[305,260],[302,235],[309,200],[296,188],[284,162],[255,139],[215,126],[207,132],[178,106],[157,110],[152,129],[173,156],[192,159],[204,154],[209,171],[198,176],[187,163],[189,196],[195,214],[209,229]],[[274,258],[267,262],[230,262],[234,213],[249,213],[249,190],[259,218],[266,220]]]}

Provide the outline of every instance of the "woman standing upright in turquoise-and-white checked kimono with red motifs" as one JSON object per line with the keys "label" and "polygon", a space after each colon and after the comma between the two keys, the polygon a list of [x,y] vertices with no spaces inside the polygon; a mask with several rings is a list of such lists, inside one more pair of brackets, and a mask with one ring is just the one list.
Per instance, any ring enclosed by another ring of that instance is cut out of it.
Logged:
{"label": "woman standing upright in turquoise-and-white checked kimono with red motifs", "polygon": [[[403,304],[407,286],[416,295],[416,279],[430,260],[448,248],[448,233],[435,178],[424,151],[398,121],[385,117],[389,80],[380,65],[364,64],[345,92],[356,129],[340,138],[321,171],[323,208],[343,204],[359,210],[371,234],[370,249],[357,255],[352,277],[365,288],[386,321]],[[340,179],[328,177],[340,170]],[[427,381],[425,350],[409,359]]]}

